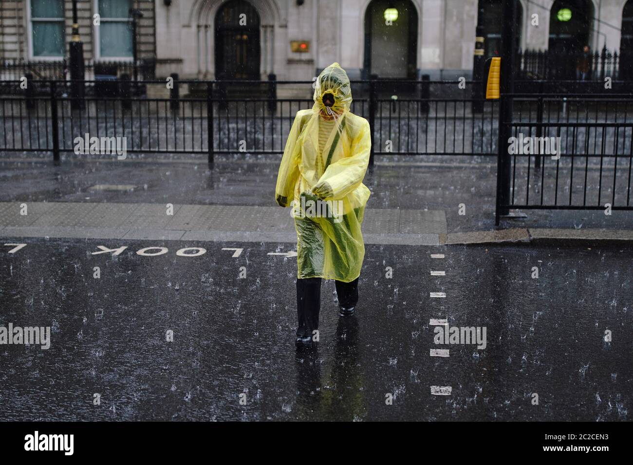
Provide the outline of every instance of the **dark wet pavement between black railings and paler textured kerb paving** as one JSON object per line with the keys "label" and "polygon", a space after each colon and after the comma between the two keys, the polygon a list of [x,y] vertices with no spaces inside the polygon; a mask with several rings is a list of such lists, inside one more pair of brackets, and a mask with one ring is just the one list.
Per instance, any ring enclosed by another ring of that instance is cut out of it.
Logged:
{"label": "dark wet pavement between black railings and paler textured kerb paving", "polygon": [[[4,185],[0,201],[274,206],[279,159],[278,155],[216,156],[215,166],[210,169],[200,155],[160,158],[130,154],[124,161],[70,155],[60,166],[54,166],[50,155],[5,154],[0,161]],[[596,174],[596,170],[590,171],[590,179]],[[582,176],[575,179],[581,182]],[[443,211],[448,232],[494,229],[493,157],[377,156],[365,184],[372,191],[368,209]],[[605,177],[603,189],[609,185]],[[561,189],[560,195],[568,195],[568,190]],[[603,199],[606,202],[609,197]],[[460,204],[465,207],[463,215]],[[633,229],[633,211],[613,211],[610,216],[602,210],[525,213],[527,218],[503,220],[502,226]]]}

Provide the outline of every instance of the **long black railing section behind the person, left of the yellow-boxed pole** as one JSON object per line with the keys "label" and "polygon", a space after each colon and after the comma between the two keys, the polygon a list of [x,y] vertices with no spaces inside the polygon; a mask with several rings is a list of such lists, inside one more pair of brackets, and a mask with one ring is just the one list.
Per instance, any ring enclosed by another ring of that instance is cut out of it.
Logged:
{"label": "long black railing section behind the person, left of the yellow-boxed pole", "polygon": [[[50,151],[56,160],[75,152],[74,140],[85,134],[123,137],[130,153],[204,153],[210,161],[215,154],[281,153],[296,112],[313,105],[312,82],[251,82],[263,86],[261,97],[244,97],[243,87],[231,89],[228,81],[206,82],[204,89],[176,81],[177,90],[150,81],[143,83],[147,94],[165,97],[141,98],[132,97],[136,84],[127,81],[115,84],[112,96],[81,100],[70,96],[67,81],[32,84],[0,101],[0,150]],[[496,154],[498,103],[473,99],[475,83],[467,89],[457,81],[404,84],[396,95],[399,89],[384,81],[353,82],[351,111],[370,121],[372,161],[373,154]]]}

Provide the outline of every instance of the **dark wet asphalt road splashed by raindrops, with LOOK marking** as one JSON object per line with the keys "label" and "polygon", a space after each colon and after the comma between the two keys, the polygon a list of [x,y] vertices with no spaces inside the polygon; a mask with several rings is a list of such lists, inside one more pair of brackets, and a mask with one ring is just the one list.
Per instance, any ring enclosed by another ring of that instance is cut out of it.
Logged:
{"label": "dark wet asphalt road splashed by raindrops, with LOOK marking", "polygon": [[[0,326],[51,326],[48,350],[0,345],[1,420],[630,419],[627,246],[368,245],[358,314],[339,318],[325,282],[318,349],[296,352],[295,259],[268,255],[294,244],[1,244]],[[486,348],[434,344],[443,318],[485,326]]]}

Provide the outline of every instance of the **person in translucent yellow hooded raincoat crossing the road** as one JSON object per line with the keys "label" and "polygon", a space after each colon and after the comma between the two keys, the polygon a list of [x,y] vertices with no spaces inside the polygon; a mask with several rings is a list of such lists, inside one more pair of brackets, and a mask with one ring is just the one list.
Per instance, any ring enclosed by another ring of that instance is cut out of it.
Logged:
{"label": "person in translucent yellow hooded raincoat crossing the road", "polygon": [[322,278],[335,280],[341,315],[354,313],[370,195],[363,184],[369,123],[349,111],[351,86],[338,63],[318,75],[314,101],[294,118],[275,188],[277,203],[292,208],[297,231],[297,347],[315,339]]}

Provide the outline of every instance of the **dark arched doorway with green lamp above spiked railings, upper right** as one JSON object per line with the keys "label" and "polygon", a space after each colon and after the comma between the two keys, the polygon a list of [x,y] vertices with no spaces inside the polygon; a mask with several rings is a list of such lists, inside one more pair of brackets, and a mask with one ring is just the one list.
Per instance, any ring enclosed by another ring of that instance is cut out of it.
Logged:
{"label": "dark arched doorway with green lamp above spiked railings, upper right", "polygon": [[575,54],[591,44],[591,0],[556,0],[549,14],[549,46],[555,53]]}

